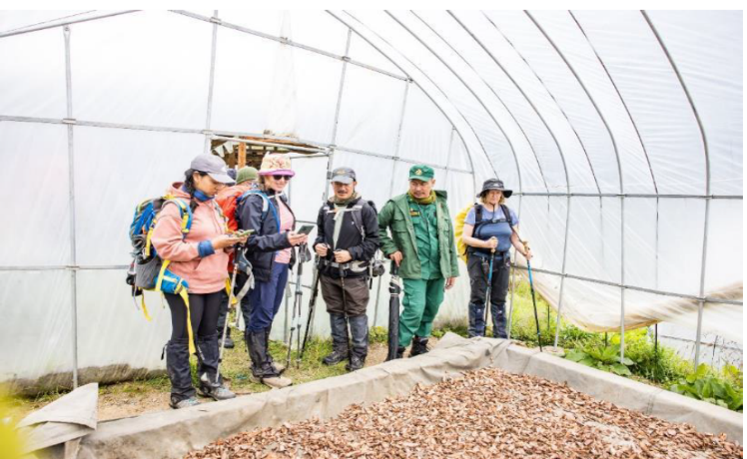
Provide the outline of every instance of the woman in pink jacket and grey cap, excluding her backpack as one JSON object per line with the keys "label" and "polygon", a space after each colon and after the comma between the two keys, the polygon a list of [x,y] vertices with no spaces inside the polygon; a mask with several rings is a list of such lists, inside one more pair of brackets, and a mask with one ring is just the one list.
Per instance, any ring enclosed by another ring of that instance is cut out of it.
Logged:
{"label": "woman in pink jacket and grey cap, excluding her backpack", "polygon": [[[158,214],[151,238],[169,270],[188,285],[189,318],[195,337],[200,393],[215,400],[234,398],[218,374],[219,337],[216,332],[221,292],[225,288],[228,250],[246,238],[227,234],[226,221],[214,201],[226,184],[233,183],[222,159],[199,155],[185,172],[184,183],[174,183],[168,194],[192,209],[192,226],[184,235],[179,206],[170,202]],[[189,367],[187,305],[178,295],[165,294],[171,309],[171,339],[166,345],[166,369],[171,380],[171,407],[198,403]]]}

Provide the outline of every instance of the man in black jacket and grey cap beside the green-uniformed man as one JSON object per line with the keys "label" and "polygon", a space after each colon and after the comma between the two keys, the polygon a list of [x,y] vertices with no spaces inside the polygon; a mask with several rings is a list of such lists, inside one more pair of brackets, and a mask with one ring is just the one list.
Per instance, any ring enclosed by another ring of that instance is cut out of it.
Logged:
{"label": "man in black jacket and grey cap beside the green-uniformed man", "polygon": [[333,343],[322,362],[334,365],[349,359],[345,368],[355,371],[363,368],[368,354],[369,263],[379,248],[379,223],[372,203],[355,191],[355,171],[337,168],[331,182],[335,195],[319,209],[314,241]]}

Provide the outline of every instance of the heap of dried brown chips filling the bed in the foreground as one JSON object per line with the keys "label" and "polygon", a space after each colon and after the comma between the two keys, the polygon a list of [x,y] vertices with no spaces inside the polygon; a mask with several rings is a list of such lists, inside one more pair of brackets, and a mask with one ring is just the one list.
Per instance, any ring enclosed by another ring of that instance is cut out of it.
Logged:
{"label": "heap of dried brown chips filling the bed in the foreground", "polygon": [[187,459],[742,458],[725,435],[697,432],[495,368],[352,405],[336,418],[219,440]]}

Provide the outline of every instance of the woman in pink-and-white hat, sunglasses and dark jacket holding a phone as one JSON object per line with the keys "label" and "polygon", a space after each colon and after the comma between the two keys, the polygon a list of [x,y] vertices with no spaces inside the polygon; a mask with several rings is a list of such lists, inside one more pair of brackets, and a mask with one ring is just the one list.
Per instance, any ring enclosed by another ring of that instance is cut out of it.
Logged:
{"label": "woman in pink-and-white hat, sunglasses and dark jacket holding a phone", "polygon": [[[252,374],[270,387],[291,384],[268,352],[272,321],[283,299],[293,246],[306,243],[307,236],[293,231],[296,219],[283,189],[295,173],[282,154],[266,155],[259,170],[259,189],[243,195],[237,212],[239,228],[254,230],[249,236],[246,258],[251,263],[254,288],[241,301],[246,330],[244,339],[252,361]],[[241,274],[239,285],[247,281]]]}

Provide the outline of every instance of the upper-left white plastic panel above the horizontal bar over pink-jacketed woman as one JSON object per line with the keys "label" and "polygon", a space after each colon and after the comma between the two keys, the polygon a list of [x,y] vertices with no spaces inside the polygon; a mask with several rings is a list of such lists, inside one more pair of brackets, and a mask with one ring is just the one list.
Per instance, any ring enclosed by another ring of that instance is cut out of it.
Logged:
{"label": "upper-left white plastic panel above the horizontal bar over pink-jacketed woman", "polygon": [[84,22],[71,30],[76,118],[205,127],[207,24],[166,12],[139,12]]}

